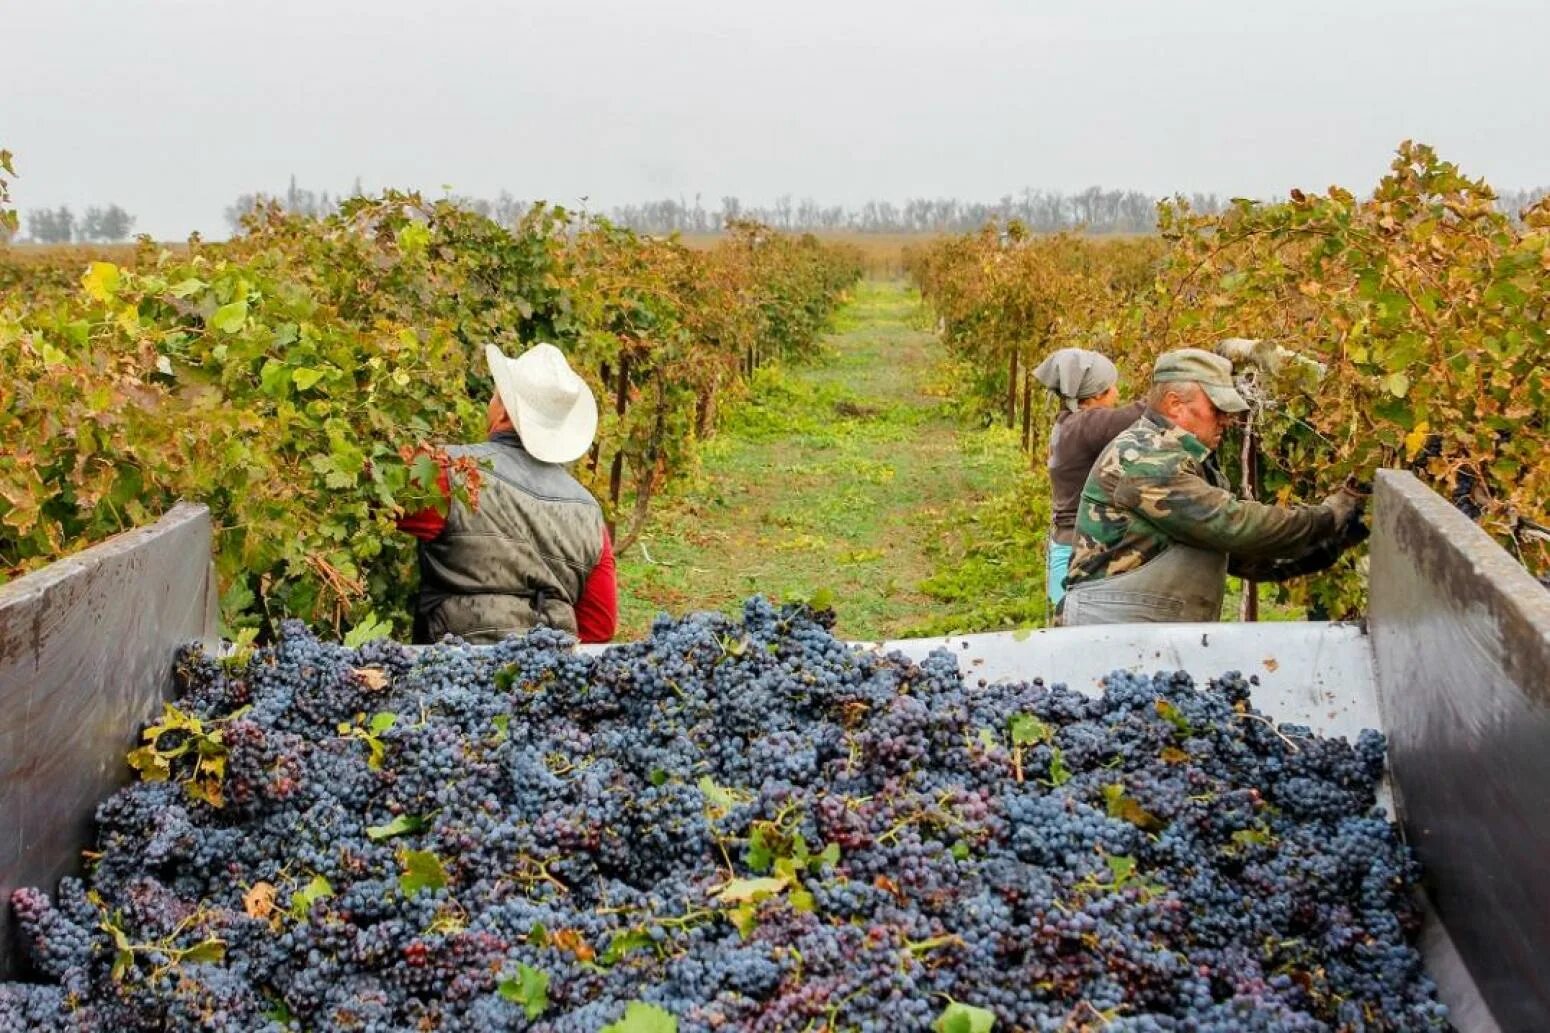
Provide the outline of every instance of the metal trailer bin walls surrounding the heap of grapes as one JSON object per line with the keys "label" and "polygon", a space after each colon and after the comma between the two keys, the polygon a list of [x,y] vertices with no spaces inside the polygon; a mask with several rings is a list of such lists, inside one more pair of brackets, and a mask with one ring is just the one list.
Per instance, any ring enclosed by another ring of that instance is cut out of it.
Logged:
{"label": "metal trailer bin walls surrounding the heap of grapes", "polygon": [[[1111,625],[866,648],[947,648],[970,684],[1085,692],[1114,669],[1237,670],[1279,721],[1383,731],[1389,803],[1426,869],[1421,949],[1455,1027],[1550,1030],[1550,593],[1415,478],[1383,472],[1369,599],[1366,625]],[[0,588],[0,893],[74,867],[96,802],[127,776],[124,751],[170,692],[174,650],[212,637],[214,600],[208,515],[186,506]],[[11,954],[0,949],[0,977]]]}

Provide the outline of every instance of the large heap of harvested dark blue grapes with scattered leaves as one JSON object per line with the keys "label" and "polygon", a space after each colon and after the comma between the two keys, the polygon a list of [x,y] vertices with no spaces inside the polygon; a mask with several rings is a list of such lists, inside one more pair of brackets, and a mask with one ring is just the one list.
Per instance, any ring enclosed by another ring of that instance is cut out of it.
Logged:
{"label": "large heap of harvested dark blue grapes with scattered leaves", "polygon": [[189,653],[202,731],[102,803],[84,881],[14,895],[39,982],[0,1028],[1448,1028],[1380,735],[1277,727],[1238,675],[1088,698],[831,627]]}

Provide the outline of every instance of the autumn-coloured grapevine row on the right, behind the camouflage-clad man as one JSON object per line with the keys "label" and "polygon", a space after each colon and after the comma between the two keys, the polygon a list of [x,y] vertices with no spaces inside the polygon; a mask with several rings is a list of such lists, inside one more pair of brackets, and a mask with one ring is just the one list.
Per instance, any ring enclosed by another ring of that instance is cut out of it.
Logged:
{"label": "autumn-coloured grapevine row on the right, behind the camouflage-clad man", "polygon": [[[1257,374],[1273,501],[1407,468],[1531,572],[1550,569],[1550,200],[1514,220],[1483,181],[1406,143],[1367,199],[1291,191],[1220,214],[1173,202],[1159,231],[1135,242],[986,231],[918,253],[913,275],[944,340],[980,372],[981,402],[1004,399],[1009,420],[1009,352],[1026,369],[1090,343],[1139,392],[1162,351],[1269,341],[1297,357]],[[1025,420],[1029,402],[1025,391]],[[1035,454],[1049,419],[1025,434]],[[1359,614],[1358,565],[1296,597]]]}

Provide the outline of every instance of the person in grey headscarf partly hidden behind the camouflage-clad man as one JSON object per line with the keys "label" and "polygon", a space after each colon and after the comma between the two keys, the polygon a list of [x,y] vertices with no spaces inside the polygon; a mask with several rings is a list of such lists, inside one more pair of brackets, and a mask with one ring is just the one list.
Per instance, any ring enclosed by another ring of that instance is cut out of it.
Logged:
{"label": "person in grey headscarf partly hidden behind the camouflage-clad man", "polygon": [[1122,430],[1141,419],[1144,405],[1119,406],[1119,369],[1085,347],[1062,347],[1034,369],[1034,378],[1060,399],[1060,416],[1049,433],[1049,549],[1046,591],[1049,605],[1065,596],[1065,575],[1076,546],[1076,507],[1082,485],[1099,453]]}

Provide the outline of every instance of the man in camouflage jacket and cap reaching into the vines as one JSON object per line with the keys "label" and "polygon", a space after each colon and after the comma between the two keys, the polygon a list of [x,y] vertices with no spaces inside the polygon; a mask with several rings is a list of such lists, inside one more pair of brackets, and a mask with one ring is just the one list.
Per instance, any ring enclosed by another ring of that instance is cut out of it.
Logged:
{"label": "man in camouflage jacket and cap reaching into the vines", "polygon": [[1229,490],[1212,450],[1246,409],[1226,358],[1194,347],[1158,358],[1145,413],[1082,489],[1063,624],[1217,620],[1228,574],[1308,574],[1364,537],[1348,489],[1318,506]]}

